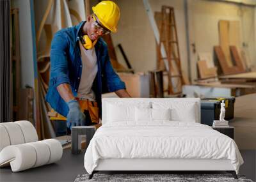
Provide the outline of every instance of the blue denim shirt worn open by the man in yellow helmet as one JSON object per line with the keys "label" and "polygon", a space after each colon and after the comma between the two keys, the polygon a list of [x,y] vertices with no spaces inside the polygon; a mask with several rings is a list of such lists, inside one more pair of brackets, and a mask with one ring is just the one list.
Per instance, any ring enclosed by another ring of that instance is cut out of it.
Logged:
{"label": "blue denim shirt worn open by the man in yellow helmet", "polygon": [[[61,29],[51,43],[51,75],[49,89],[45,100],[52,109],[67,117],[68,106],[57,91],[57,86],[63,83],[70,84],[72,93],[77,96],[79,82],[82,74],[81,50],[79,39],[80,29],[84,22],[77,26]],[[93,80],[92,89],[95,92],[96,101],[99,105],[101,117],[101,94],[125,89],[125,84],[113,70],[109,61],[108,47],[102,38],[95,44],[98,72]]]}

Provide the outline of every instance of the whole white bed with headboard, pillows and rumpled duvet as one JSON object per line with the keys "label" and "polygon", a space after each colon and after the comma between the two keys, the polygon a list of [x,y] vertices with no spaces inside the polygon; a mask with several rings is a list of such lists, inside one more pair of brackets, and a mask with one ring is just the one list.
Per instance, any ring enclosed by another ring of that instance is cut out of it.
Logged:
{"label": "whole white bed with headboard, pillows and rumpled duvet", "polygon": [[236,178],[241,164],[234,140],[200,124],[196,98],[103,99],[102,126],[84,155],[90,178],[97,171],[231,171]]}

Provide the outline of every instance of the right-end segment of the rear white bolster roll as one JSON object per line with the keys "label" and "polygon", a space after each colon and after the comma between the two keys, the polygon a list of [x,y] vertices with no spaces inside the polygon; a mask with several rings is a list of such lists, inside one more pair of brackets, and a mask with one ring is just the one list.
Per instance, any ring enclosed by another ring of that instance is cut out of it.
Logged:
{"label": "right-end segment of the rear white bolster roll", "polygon": [[38,136],[35,127],[29,121],[15,121],[24,135],[25,143],[38,141]]}

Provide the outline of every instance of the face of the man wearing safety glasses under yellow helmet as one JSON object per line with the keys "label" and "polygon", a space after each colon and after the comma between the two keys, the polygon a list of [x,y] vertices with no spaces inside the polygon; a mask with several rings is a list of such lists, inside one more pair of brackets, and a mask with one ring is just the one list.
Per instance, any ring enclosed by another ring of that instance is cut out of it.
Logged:
{"label": "face of the man wearing safety glasses under yellow helmet", "polygon": [[87,34],[92,42],[94,42],[104,34],[109,33],[108,31],[106,31],[106,29],[104,29],[104,27],[99,24],[99,21],[97,21],[97,17],[94,16],[93,18],[93,15],[90,15],[90,17],[88,17],[88,22],[89,27],[87,29]]}

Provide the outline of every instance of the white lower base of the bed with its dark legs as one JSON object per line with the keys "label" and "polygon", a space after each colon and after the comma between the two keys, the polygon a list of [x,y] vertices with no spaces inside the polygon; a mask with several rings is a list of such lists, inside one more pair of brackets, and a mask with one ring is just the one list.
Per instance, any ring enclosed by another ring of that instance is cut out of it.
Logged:
{"label": "white lower base of the bed with its dark legs", "polygon": [[231,173],[237,179],[236,171],[231,165],[230,160],[210,160],[210,159],[117,159],[109,158],[99,160],[95,170],[90,174],[89,179],[92,179],[93,174],[104,171],[132,172],[137,171],[150,173],[163,173],[170,171],[193,171],[196,173],[202,171],[226,171]]}

